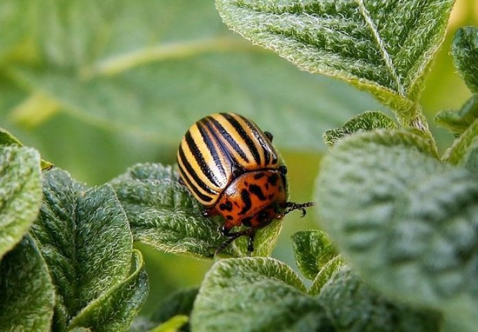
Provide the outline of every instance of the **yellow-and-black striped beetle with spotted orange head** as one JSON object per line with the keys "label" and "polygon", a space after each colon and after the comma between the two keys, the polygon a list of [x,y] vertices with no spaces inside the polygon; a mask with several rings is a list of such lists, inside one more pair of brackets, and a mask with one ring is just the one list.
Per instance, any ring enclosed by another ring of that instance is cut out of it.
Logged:
{"label": "yellow-and-black striped beetle with spotted orange head", "polygon": [[[204,215],[220,214],[228,237],[218,254],[241,236],[254,251],[256,230],[312,202],[287,201],[287,167],[272,146],[272,134],[236,113],[214,113],[186,131],[177,150],[179,181],[204,205]],[[245,230],[232,232],[244,225]]]}

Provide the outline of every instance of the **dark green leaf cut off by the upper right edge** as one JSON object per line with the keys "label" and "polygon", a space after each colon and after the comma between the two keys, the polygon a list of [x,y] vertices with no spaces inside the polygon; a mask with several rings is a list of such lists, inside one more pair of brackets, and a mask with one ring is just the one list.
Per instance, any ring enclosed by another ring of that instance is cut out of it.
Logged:
{"label": "dark green leaf cut off by the upper right edge", "polygon": [[453,37],[452,55],[454,65],[468,88],[478,92],[478,28],[459,28]]}

